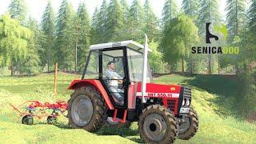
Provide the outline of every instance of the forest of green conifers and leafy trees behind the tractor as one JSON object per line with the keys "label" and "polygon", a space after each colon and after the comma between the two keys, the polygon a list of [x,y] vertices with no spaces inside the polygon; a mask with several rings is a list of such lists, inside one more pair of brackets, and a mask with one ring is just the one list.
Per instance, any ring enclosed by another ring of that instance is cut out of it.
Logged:
{"label": "forest of green conifers and leafy trees behind the tractor", "polygon": [[[12,0],[0,16],[0,69],[11,75],[53,70],[81,72],[91,44],[134,40],[148,35],[149,62],[153,73],[238,74],[244,100],[256,103],[256,1],[227,0],[226,20],[218,0],[165,0],[162,18],[154,14],[150,0],[102,0],[90,17],[85,2],[78,10],[62,0],[58,13],[48,1],[37,22],[27,13],[24,0]],[[88,3],[87,3],[88,4]],[[220,40],[206,45],[206,22]],[[191,54],[192,46],[238,47],[239,54]],[[254,95],[254,97],[252,97]],[[249,104],[248,104],[249,103]]]}

